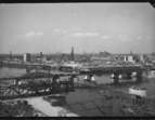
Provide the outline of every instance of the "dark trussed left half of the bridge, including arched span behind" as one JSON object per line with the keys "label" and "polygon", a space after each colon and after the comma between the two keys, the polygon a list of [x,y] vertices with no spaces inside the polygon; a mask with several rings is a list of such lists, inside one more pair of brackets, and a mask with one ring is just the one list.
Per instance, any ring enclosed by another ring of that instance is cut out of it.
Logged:
{"label": "dark trussed left half of the bridge, including arched span behind", "polygon": [[[70,79],[60,81],[60,77],[72,76]],[[0,85],[0,99],[14,99],[31,96],[42,96],[74,92],[75,74],[46,74],[30,72],[21,77],[1,78],[0,80],[13,80],[13,84]],[[44,80],[46,78],[46,80]],[[39,80],[41,79],[41,80]],[[30,80],[30,81],[28,81]],[[27,81],[27,82],[22,82]]]}

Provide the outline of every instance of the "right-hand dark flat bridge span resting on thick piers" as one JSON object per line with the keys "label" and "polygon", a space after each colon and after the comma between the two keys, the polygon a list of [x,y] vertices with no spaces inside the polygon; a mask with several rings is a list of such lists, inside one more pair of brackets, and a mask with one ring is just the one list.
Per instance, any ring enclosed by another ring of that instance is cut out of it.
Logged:
{"label": "right-hand dark flat bridge span resting on thick piers", "polygon": [[114,83],[119,83],[119,75],[126,74],[127,79],[131,79],[132,72],[137,72],[137,80],[142,80],[142,72],[147,69],[140,66],[125,66],[125,67],[100,67],[100,66],[88,66],[80,69],[80,74],[88,75],[91,78],[95,74],[113,74]]}

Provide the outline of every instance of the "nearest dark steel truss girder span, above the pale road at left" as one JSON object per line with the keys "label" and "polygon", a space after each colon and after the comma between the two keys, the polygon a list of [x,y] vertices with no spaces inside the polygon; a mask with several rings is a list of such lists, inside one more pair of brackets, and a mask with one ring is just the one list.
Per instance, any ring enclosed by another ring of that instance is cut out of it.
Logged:
{"label": "nearest dark steel truss girder span, above the pale road at left", "polygon": [[74,83],[61,81],[60,83],[49,84],[22,84],[1,88],[0,99],[22,98],[27,96],[42,96],[74,91]]}

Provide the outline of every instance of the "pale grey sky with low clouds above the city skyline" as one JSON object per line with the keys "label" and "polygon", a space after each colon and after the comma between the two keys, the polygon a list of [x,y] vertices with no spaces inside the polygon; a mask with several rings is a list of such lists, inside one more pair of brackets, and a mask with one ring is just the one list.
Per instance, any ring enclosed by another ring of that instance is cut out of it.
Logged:
{"label": "pale grey sky with low clouds above the city skyline", "polygon": [[154,41],[147,2],[0,4],[0,54],[152,53]]}

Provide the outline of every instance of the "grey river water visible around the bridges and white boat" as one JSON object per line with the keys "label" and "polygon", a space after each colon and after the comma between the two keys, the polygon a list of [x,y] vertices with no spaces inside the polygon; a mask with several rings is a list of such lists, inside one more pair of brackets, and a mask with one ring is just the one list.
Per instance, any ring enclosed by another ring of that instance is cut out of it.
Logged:
{"label": "grey river water visible around the bridges and white boat", "polygon": [[[25,68],[9,68],[9,67],[0,67],[0,78],[4,77],[18,77],[26,74],[27,70]],[[80,76],[79,79],[82,81],[85,76]],[[128,89],[131,85],[144,86],[147,89],[147,95],[155,96],[155,79],[143,78],[142,82],[137,82],[135,78],[131,80],[121,80],[119,84],[114,84],[113,80],[111,80],[111,75],[102,75],[102,76],[94,76],[96,82],[102,86],[102,84],[108,84],[108,88],[113,88],[115,90],[121,90],[128,92]],[[96,93],[96,89],[76,89],[75,92],[68,93],[66,95],[67,103],[75,103],[75,102],[85,102],[89,99],[93,99],[99,97]],[[117,105],[116,105],[117,106]],[[115,115],[121,115],[117,107],[114,107]],[[99,110],[88,110],[82,112],[77,112],[79,116],[103,116]]]}

